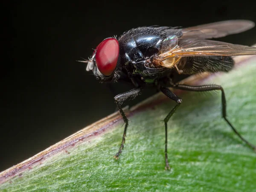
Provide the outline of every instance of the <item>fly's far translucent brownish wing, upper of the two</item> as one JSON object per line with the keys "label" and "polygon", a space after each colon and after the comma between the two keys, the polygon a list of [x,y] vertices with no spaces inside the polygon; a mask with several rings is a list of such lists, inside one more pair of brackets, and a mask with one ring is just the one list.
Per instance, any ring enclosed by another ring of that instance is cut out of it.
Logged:
{"label": "fly's far translucent brownish wing, upper of the two", "polygon": [[251,29],[255,23],[250,20],[226,20],[182,29],[182,38],[220,38]]}

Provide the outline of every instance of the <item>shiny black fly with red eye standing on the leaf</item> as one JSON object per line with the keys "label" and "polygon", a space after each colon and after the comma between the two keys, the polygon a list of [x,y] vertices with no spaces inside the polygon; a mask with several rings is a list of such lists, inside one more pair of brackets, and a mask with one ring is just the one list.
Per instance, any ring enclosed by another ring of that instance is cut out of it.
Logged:
{"label": "shiny black fly with red eye standing on the leaf", "polygon": [[249,20],[227,20],[188,28],[150,26],[124,32],[119,38],[104,39],[88,60],[87,71],[101,82],[130,82],[134,88],[114,97],[125,129],[115,158],[119,159],[125,143],[128,119],[121,105],[141,94],[145,86],[162,91],[176,105],[164,119],[165,169],[170,169],[167,157],[167,123],[182,103],[168,87],[188,91],[221,91],[222,117],[236,135],[256,151],[256,146],[239,134],[226,117],[226,98],[220,85],[190,86],[179,81],[193,74],[229,72],[234,67],[232,56],[256,55],[256,47],[209,40],[244,32],[254,27]]}

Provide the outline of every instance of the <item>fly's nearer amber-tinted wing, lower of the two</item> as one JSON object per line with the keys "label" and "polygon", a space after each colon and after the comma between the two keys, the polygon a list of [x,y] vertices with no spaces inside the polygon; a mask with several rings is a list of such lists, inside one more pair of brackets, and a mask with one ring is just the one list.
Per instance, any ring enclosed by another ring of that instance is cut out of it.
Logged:
{"label": "fly's nearer amber-tinted wing, lower of the two", "polygon": [[179,44],[169,52],[159,55],[161,60],[189,56],[234,56],[256,55],[256,47],[236,45],[206,39],[180,39]]}

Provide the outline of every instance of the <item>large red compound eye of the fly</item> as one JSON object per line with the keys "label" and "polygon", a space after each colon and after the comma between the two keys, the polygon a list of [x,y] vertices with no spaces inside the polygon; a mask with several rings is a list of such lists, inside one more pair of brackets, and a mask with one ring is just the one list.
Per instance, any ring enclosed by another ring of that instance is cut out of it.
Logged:
{"label": "large red compound eye of the fly", "polygon": [[105,76],[110,76],[117,64],[119,56],[119,44],[114,38],[102,41],[96,50],[95,61],[100,71]]}

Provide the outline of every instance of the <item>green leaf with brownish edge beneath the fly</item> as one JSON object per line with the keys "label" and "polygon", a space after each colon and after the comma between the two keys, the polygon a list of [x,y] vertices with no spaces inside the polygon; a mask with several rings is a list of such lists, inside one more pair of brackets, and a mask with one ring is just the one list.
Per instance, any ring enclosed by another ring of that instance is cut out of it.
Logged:
{"label": "green leaf with brownish edge beneath the fly", "polygon": [[[224,87],[228,119],[256,144],[256,57],[201,84]],[[0,174],[1,191],[256,191],[256,154],[221,118],[221,93],[180,93],[168,123],[164,161],[163,120],[175,105],[148,100],[129,113],[125,148],[122,119],[115,113]],[[149,105],[149,102],[152,102]],[[146,107],[148,106],[148,107]]]}

